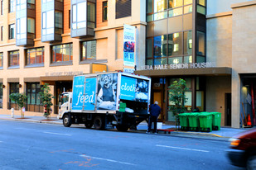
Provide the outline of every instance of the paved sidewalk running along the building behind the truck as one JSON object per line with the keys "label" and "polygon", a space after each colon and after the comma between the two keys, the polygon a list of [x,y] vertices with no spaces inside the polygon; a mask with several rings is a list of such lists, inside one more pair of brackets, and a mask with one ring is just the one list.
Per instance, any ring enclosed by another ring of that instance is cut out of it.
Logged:
{"label": "paved sidewalk running along the building behind the truck", "polygon": [[[62,120],[57,119],[56,117],[51,117],[51,120],[47,120],[44,116],[25,116],[25,118],[21,118],[21,116],[14,116],[11,115],[0,115],[0,120],[15,120],[15,121],[27,121],[33,123],[47,123],[47,124],[59,124],[62,125]],[[145,133],[147,130],[147,122],[142,122],[138,125],[138,132]],[[164,130],[170,130],[170,133]],[[171,131],[174,130],[174,131]],[[233,135],[236,135],[240,132],[243,132],[247,129],[235,129],[229,127],[221,127],[220,130],[213,130],[209,133],[205,132],[194,132],[194,131],[175,131],[175,125],[165,125],[162,124],[161,130],[158,130],[158,134],[162,135],[180,135],[180,136],[193,136],[193,137],[214,137],[214,138],[221,138],[221,139],[229,139]]]}

